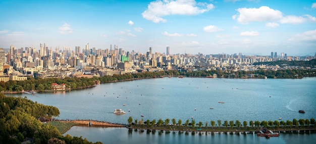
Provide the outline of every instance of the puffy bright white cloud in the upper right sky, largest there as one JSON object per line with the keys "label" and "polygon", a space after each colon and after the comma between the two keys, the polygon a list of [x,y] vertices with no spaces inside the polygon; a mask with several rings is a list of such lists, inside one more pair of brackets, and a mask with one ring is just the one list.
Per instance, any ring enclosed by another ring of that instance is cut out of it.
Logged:
{"label": "puffy bright white cloud in the upper right sky, largest there", "polygon": [[262,6],[256,8],[239,8],[236,11],[239,15],[234,15],[232,18],[241,24],[248,24],[249,22],[274,21],[282,18],[282,12]]}

